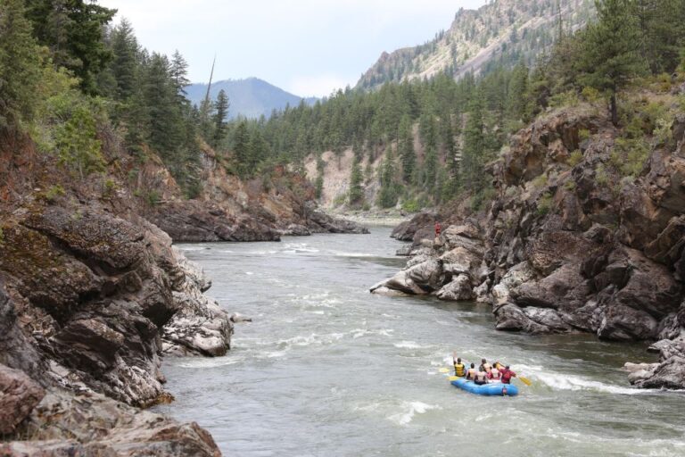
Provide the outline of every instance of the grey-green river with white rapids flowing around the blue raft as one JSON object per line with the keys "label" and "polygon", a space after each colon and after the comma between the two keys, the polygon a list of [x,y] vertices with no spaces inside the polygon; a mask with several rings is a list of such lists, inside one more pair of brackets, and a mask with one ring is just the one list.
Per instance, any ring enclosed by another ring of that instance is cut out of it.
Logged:
{"label": "grey-green river with white rapids flowing around the blue raft", "polygon": [[[644,345],[497,332],[489,306],[391,298],[368,287],[400,269],[391,228],[281,243],[179,245],[237,324],[216,359],[167,359],[177,401],[227,456],[682,456],[685,395],[631,389]],[[532,380],[481,397],[440,372],[451,352],[506,361]]]}

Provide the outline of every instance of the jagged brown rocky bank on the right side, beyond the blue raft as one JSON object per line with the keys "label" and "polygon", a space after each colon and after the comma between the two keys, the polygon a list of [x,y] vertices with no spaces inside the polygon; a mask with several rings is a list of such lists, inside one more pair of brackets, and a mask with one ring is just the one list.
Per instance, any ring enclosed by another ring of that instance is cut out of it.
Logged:
{"label": "jagged brown rocky bank on the right side, beyond the blue raft", "polygon": [[[536,120],[491,164],[489,210],[401,224],[407,268],[372,292],[488,303],[499,330],[654,341],[661,361],[631,366],[631,383],[685,388],[685,117],[634,179],[620,142],[590,105]],[[449,227],[433,239],[434,220]]]}

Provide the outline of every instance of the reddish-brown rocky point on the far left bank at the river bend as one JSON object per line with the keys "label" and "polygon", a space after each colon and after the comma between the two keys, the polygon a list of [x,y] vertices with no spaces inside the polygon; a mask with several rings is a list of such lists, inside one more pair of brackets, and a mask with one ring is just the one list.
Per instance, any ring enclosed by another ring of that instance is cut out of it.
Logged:
{"label": "reddish-brown rocky point on the far left bank at the river bend", "polygon": [[284,167],[256,179],[229,174],[222,158],[203,151],[202,190],[194,199],[182,197],[169,171],[151,163],[144,170],[148,194],[157,201],[147,219],[176,242],[278,241],[283,235],[368,233],[350,220],[326,215],[313,204],[314,187]]}

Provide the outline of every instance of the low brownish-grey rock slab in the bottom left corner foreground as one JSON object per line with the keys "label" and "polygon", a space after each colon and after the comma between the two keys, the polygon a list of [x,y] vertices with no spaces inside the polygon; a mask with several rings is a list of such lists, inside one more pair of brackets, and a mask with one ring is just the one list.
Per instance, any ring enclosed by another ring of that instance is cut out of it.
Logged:
{"label": "low brownish-grey rock slab in the bottom left corner foreground", "polygon": [[90,394],[51,389],[31,412],[31,441],[0,444],[2,455],[186,456],[221,455],[196,423],[178,424],[160,414]]}

